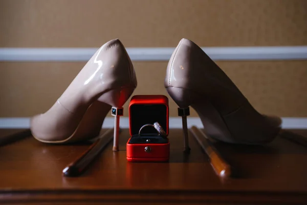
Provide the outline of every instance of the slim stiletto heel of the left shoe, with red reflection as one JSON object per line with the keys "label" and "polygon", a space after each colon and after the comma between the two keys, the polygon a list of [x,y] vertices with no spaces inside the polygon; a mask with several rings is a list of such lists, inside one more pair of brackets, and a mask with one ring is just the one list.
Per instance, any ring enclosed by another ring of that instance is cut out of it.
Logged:
{"label": "slim stiletto heel of the left shoe, with red reflection", "polygon": [[111,113],[114,116],[113,151],[118,151],[119,118],[124,114],[122,106],[134,91],[134,87],[126,87],[110,90],[103,93],[97,100],[112,106]]}

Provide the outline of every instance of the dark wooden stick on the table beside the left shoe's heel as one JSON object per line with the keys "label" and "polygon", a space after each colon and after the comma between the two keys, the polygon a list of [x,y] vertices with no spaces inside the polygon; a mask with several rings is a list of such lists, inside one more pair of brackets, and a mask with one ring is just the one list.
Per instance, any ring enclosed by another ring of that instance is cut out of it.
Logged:
{"label": "dark wooden stick on the table beside the left shoe's heel", "polygon": [[79,176],[113,138],[114,129],[105,131],[80,157],[63,169],[63,176]]}

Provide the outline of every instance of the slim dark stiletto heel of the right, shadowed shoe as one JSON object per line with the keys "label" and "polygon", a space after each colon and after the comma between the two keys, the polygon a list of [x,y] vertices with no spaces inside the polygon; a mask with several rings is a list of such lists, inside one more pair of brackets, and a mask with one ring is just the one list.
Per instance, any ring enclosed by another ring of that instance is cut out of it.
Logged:
{"label": "slim dark stiletto heel of the right, shadowed shoe", "polygon": [[166,88],[166,91],[179,106],[178,116],[182,117],[182,130],[183,130],[183,144],[184,152],[189,153],[189,137],[188,137],[188,125],[187,116],[190,115],[189,106],[196,100],[197,95],[190,90],[184,88]]}

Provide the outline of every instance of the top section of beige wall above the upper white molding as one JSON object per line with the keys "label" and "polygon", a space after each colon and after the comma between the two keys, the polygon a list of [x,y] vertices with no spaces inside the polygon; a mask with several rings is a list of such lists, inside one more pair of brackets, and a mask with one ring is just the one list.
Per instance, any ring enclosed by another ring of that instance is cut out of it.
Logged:
{"label": "top section of beige wall above the upper white molding", "polygon": [[[305,0],[2,0],[1,47],[306,45]],[[4,32],[5,31],[5,32]]]}

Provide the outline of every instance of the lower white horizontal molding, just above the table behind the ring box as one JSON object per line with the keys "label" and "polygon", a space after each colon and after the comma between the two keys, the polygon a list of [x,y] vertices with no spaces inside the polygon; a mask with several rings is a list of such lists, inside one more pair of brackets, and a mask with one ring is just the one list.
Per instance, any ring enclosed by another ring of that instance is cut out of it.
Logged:
{"label": "lower white horizontal molding, just above the table behind the ring box", "polygon": [[[188,127],[196,126],[204,128],[202,121],[199,117],[188,117]],[[113,128],[114,117],[106,117],[102,128]],[[120,118],[120,127],[129,128],[128,117]],[[307,129],[307,117],[282,117],[281,127],[283,129]],[[30,128],[30,118],[28,117],[12,117],[12,118],[0,118],[0,129],[28,129]],[[170,117],[169,128],[181,129],[182,121],[181,117]]]}

